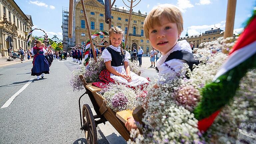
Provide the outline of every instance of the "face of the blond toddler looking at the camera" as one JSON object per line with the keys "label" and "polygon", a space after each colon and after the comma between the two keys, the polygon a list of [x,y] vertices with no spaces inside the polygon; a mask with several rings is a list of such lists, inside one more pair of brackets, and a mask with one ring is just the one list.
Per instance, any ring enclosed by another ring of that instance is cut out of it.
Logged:
{"label": "face of the blond toddler looking at the camera", "polygon": [[154,25],[149,29],[149,40],[152,46],[162,54],[166,54],[177,43],[180,37],[176,23],[170,22],[167,18],[162,18],[160,25]]}

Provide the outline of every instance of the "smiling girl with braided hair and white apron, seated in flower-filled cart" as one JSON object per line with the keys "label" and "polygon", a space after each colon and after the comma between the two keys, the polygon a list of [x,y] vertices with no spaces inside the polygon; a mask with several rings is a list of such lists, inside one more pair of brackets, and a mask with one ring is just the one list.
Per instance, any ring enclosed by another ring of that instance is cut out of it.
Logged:
{"label": "smiling girl with braided hair and white apron, seated in flower-filled cart", "polygon": [[[131,87],[148,83],[149,81],[146,78],[138,76],[134,72],[130,71],[128,62],[131,56],[129,52],[123,49],[123,34],[123,30],[118,27],[112,27],[109,30],[111,45],[105,48],[101,55],[104,59],[107,70],[103,70],[101,72],[99,76],[100,79],[104,79],[104,81],[107,79],[108,82],[118,81]],[[97,87],[104,87],[102,84],[104,85],[105,83],[93,83],[93,85]]]}

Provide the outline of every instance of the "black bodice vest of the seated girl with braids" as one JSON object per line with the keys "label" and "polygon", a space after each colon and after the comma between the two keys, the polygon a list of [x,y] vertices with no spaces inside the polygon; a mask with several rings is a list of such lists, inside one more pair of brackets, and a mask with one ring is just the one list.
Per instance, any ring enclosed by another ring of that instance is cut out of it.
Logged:
{"label": "black bodice vest of the seated girl with braids", "polygon": [[123,50],[124,54],[117,52],[115,50],[113,50],[110,47],[106,48],[108,50],[108,52],[111,54],[111,66],[123,66],[124,65],[124,58],[125,58],[125,50]]}

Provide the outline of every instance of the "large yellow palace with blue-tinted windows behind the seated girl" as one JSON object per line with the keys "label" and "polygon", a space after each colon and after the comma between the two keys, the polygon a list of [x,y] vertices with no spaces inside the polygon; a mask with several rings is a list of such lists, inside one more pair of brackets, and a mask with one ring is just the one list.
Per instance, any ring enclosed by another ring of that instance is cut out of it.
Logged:
{"label": "large yellow palace with blue-tinted windows behind the seated girl", "polygon": [[[108,31],[109,26],[105,23],[105,8],[103,0],[85,0],[85,9],[88,17],[88,23],[90,26],[91,33],[99,32],[101,30]],[[120,27],[125,32],[125,37],[128,29],[129,11],[119,8],[111,9],[112,15],[112,26]],[[152,50],[152,46],[149,40],[146,39],[143,29],[143,22],[147,15],[132,12],[131,23],[129,28],[128,40],[126,49],[132,47],[141,46],[144,50],[144,54]],[[85,18],[83,14],[83,8],[81,1],[75,3],[74,8],[74,23],[75,23],[75,43],[83,43],[89,39],[88,32],[85,24]],[[98,36],[95,40],[100,44],[103,36]],[[124,38],[125,39],[125,38]],[[107,40],[107,39],[106,39]],[[108,40],[107,40],[108,41]]]}

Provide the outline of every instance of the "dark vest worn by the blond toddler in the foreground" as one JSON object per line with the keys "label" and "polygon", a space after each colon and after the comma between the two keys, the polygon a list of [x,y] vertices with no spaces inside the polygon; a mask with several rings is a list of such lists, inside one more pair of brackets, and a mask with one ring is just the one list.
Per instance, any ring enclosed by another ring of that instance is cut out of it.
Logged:
{"label": "dark vest worn by the blond toddler in the foreground", "polygon": [[186,61],[191,71],[193,70],[193,64],[199,64],[199,61],[194,59],[193,54],[187,51],[174,51],[170,53],[170,55],[166,58],[165,62],[171,59],[180,59]]}

